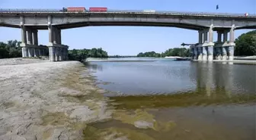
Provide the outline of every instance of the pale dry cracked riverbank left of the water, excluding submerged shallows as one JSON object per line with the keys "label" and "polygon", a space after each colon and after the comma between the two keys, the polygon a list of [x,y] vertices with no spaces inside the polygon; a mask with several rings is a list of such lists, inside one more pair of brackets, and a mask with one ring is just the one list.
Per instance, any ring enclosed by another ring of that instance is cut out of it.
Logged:
{"label": "pale dry cracked riverbank left of the water, excluding submerged shallows", "polygon": [[105,91],[78,61],[0,60],[0,139],[84,139],[110,118]]}

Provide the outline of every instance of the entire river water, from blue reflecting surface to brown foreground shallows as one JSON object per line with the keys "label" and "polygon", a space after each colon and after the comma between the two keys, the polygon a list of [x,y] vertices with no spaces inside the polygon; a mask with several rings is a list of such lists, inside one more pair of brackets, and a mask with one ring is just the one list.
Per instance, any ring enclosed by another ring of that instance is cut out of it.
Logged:
{"label": "entire river water, from blue reflecting surface to brown foreground shallows", "polygon": [[111,82],[101,88],[123,93],[106,94],[113,119],[91,124],[91,138],[256,139],[255,66],[156,59],[89,67]]}

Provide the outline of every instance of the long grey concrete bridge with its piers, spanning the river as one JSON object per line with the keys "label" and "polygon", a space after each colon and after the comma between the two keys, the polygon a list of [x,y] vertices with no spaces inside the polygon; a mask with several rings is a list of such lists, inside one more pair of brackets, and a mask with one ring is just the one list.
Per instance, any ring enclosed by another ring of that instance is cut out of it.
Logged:
{"label": "long grey concrete bridge with its piers, spanning the river", "polygon": [[[0,26],[21,29],[23,57],[39,55],[42,48],[38,46],[38,30],[49,31],[47,47],[50,61],[62,61],[68,59],[69,46],[62,45],[61,30],[82,26],[172,26],[198,31],[198,42],[191,47],[194,60],[232,61],[235,30],[256,29],[256,15],[245,17],[244,14],[177,11],[69,12],[54,9],[0,9]],[[217,43],[213,43],[213,32],[218,33]]]}

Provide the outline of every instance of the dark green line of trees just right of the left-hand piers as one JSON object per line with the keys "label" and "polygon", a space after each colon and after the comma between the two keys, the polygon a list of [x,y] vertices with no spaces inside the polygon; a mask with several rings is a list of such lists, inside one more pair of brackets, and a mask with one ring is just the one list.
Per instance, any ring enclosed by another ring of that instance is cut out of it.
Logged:
{"label": "dark green line of trees just right of the left-hand piers", "polygon": [[107,51],[104,51],[102,48],[69,50],[69,60],[85,61],[86,58],[108,58],[108,55]]}

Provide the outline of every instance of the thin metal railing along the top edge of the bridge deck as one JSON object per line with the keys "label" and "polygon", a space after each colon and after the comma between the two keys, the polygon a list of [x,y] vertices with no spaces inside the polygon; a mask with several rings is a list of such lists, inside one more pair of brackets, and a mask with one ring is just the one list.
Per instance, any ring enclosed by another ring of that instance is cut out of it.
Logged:
{"label": "thin metal railing along the top edge of the bridge deck", "polygon": [[[62,9],[2,9],[0,13],[88,13],[90,11],[70,12]],[[94,12],[90,12],[94,13]],[[97,13],[143,13],[143,14],[174,14],[174,15],[192,15],[192,16],[216,16],[216,17],[245,17],[245,14],[235,13],[211,13],[211,12],[188,12],[188,11],[154,11],[145,12],[143,10],[107,10]],[[256,17],[256,14],[249,14],[248,17]]]}

